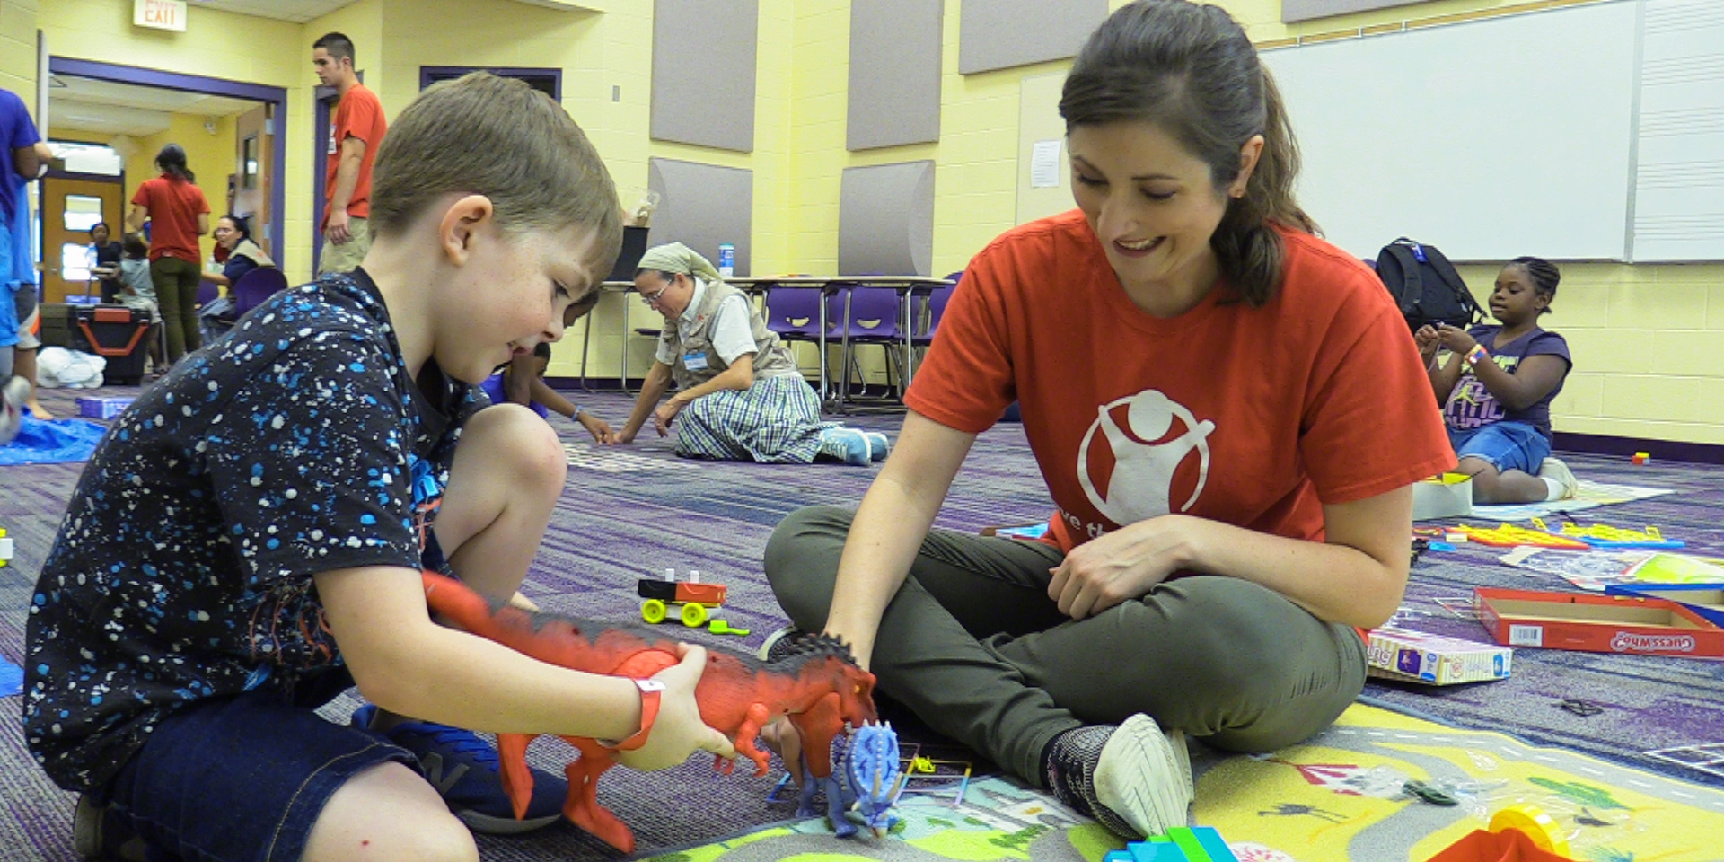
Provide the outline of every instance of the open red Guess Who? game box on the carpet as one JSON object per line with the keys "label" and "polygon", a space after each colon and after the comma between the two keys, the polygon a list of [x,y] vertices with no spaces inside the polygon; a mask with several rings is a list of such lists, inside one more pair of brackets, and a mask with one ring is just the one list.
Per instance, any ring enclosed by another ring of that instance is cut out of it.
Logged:
{"label": "open red Guess Who? game box on the carpet", "polygon": [[1496,643],[1548,650],[1724,659],[1724,629],[1662,598],[1474,590]]}

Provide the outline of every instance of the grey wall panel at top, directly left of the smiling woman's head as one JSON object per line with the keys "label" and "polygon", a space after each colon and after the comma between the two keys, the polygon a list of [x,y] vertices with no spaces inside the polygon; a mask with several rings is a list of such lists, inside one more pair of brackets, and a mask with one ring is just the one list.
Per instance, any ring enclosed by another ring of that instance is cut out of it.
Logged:
{"label": "grey wall panel at top, directly left of the smiling woman's head", "polygon": [[1107,21],[1107,0],[964,0],[959,72],[1076,57]]}

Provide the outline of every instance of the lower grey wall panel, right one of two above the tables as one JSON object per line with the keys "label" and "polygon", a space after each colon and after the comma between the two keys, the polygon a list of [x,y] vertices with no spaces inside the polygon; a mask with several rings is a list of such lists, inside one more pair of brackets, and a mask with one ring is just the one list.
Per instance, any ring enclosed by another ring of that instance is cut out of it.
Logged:
{"label": "lower grey wall panel, right one of two above the tables", "polygon": [[838,274],[928,276],[934,264],[934,162],[845,167]]}

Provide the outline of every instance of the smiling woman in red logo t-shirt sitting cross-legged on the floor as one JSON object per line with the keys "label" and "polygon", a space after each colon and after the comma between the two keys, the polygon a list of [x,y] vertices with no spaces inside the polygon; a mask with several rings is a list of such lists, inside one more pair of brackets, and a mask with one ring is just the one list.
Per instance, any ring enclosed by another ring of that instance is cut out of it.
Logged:
{"label": "smiling woman in red logo t-shirt sitting cross-legged on the floor", "polygon": [[[1295,203],[1222,9],[1119,9],[1060,114],[1078,210],[976,255],[862,507],[791,514],[765,572],[931,728],[1134,838],[1186,824],[1184,734],[1267,752],[1353,702],[1410,484],[1455,459],[1381,281]],[[1014,400],[1048,536],[931,531]]]}

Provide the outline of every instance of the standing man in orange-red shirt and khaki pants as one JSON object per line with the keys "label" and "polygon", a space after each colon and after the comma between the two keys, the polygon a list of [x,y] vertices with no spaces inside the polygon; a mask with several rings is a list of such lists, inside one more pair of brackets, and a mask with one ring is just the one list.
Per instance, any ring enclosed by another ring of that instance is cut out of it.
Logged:
{"label": "standing man in orange-red shirt and khaki pants", "polygon": [[353,72],[353,40],[326,33],[312,45],[317,81],[341,93],[329,122],[329,167],[324,174],[322,259],[317,272],[352,272],[371,250],[371,162],[388,131],[383,103]]}

